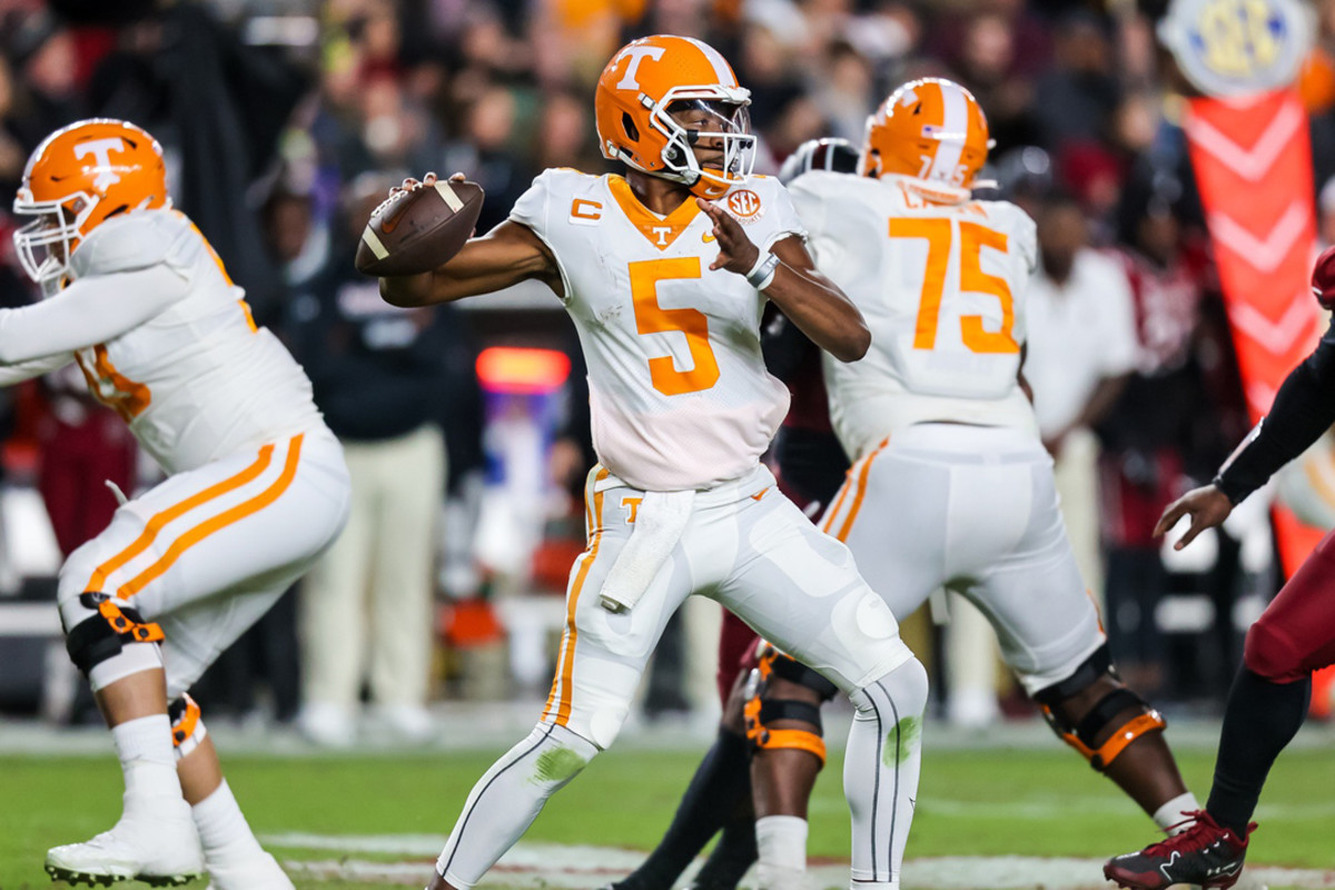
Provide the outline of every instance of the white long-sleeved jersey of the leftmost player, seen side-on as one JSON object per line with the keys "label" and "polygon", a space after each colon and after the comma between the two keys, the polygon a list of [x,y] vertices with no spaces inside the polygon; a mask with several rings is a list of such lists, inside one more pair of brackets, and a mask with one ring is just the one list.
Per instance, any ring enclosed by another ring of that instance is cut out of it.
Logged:
{"label": "white long-sleeved jersey of the leftmost player, seen side-on", "polygon": [[183,213],[112,217],[69,267],[51,299],[0,312],[0,383],[76,360],[168,472],[323,427],[304,371],[255,327],[244,291]]}

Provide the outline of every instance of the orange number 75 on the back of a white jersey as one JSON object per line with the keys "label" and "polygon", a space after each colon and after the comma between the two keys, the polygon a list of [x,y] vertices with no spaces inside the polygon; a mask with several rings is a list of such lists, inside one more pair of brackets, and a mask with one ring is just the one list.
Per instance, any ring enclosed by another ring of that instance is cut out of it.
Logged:
{"label": "orange number 75 on the back of a white jersey", "polygon": [[[960,226],[960,291],[967,294],[991,294],[1001,300],[1001,330],[988,331],[983,327],[981,315],[960,316],[960,339],[973,352],[1019,352],[1015,342],[1015,300],[1005,279],[988,275],[981,267],[984,247],[1005,252],[1008,239],[977,223],[959,221]],[[936,328],[941,319],[941,296],[945,292],[945,275],[951,264],[951,246],[955,239],[955,223],[941,217],[896,216],[890,219],[890,238],[926,239],[926,274],[922,276],[922,295],[918,302],[917,324],[913,331],[913,348],[930,350],[936,347]]]}

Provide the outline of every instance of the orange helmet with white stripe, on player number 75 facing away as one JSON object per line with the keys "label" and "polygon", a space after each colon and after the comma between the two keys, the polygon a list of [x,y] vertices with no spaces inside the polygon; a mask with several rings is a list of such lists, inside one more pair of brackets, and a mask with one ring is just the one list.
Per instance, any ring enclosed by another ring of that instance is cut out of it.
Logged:
{"label": "orange helmet with white stripe, on player number 75 facing away", "polygon": [[969,197],[992,145],[973,93],[952,80],[922,77],[896,89],[866,119],[858,172],[905,176],[922,197],[956,204]]}

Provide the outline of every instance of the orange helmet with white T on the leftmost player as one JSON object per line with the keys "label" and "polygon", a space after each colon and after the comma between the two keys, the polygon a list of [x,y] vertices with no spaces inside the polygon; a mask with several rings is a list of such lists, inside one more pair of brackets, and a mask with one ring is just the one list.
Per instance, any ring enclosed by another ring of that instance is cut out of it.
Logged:
{"label": "orange helmet with white T on the leftmost player", "polygon": [[13,234],[28,276],[61,278],[79,242],[103,220],[171,207],[158,140],[123,120],[80,120],[47,136],[23,171],[13,212],[37,219]]}

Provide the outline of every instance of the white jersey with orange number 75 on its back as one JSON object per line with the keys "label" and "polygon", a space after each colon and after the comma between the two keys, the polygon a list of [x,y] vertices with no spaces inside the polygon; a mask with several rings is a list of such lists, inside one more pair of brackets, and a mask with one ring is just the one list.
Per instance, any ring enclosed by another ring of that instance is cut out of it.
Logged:
{"label": "white jersey with orange number 75 on its back", "polygon": [[1036,432],[1017,382],[1037,256],[1024,211],[932,204],[893,176],[813,171],[790,188],[817,267],[872,331],[862,360],[825,356],[830,419],[850,458],[932,420]]}

